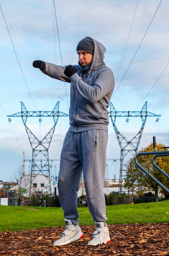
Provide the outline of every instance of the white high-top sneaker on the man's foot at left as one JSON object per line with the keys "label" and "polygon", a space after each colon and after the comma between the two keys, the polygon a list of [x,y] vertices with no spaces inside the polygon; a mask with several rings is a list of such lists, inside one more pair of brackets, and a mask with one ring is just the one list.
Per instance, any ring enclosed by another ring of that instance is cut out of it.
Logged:
{"label": "white high-top sneaker on the man's foot at left", "polygon": [[84,236],[79,225],[74,226],[71,220],[64,221],[66,223],[66,230],[62,233],[61,238],[53,243],[55,246],[67,245]]}

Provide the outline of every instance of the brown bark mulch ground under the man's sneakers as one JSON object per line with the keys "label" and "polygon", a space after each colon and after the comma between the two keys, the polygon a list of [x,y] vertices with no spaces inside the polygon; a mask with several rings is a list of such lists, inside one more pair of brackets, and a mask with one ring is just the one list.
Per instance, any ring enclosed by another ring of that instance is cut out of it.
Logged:
{"label": "brown bark mulch ground under the man's sneakers", "polygon": [[169,255],[169,223],[108,225],[111,242],[87,246],[95,230],[81,226],[84,237],[69,245],[56,247],[65,227],[51,227],[0,233],[0,255],[3,256],[157,256]]}

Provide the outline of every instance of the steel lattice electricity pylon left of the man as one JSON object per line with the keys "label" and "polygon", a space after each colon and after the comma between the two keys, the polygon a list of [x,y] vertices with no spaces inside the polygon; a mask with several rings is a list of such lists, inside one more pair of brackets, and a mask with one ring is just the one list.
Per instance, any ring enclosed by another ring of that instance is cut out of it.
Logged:
{"label": "steel lattice electricity pylon left of the man", "polygon": [[[44,175],[44,177],[47,180],[46,186],[43,187],[41,192],[43,192],[44,189],[47,189],[48,192],[50,192],[51,185],[50,185],[50,166],[49,166],[48,148],[50,146],[50,142],[52,140],[58,118],[68,117],[68,114],[59,112],[59,101],[56,103],[53,111],[28,111],[24,106],[24,103],[21,101],[21,112],[18,112],[13,115],[9,115],[8,117],[22,117],[22,121],[24,123],[26,133],[29,137],[29,142],[32,147],[31,180],[30,180],[29,197],[31,197],[31,193],[33,193],[33,190],[35,190],[35,184],[33,185],[33,180],[38,174]],[[54,125],[50,129],[50,131],[46,134],[46,136],[42,140],[39,140],[33,134],[33,132],[31,132],[28,126],[26,126],[26,120],[28,117],[40,117],[39,119],[40,122],[42,117],[53,117]],[[11,121],[10,118],[9,118],[9,121]],[[39,159],[37,159],[37,157]]]}

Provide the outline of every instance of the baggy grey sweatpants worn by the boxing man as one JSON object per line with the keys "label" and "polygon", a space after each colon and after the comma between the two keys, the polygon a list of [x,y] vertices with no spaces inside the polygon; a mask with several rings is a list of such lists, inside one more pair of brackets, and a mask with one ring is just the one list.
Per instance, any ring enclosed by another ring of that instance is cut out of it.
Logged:
{"label": "baggy grey sweatpants worn by the boxing man", "polygon": [[66,133],[61,150],[58,191],[64,217],[75,226],[79,224],[77,191],[82,171],[88,207],[94,222],[107,220],[103,191],[107,143],[108,132],[105,130]]}

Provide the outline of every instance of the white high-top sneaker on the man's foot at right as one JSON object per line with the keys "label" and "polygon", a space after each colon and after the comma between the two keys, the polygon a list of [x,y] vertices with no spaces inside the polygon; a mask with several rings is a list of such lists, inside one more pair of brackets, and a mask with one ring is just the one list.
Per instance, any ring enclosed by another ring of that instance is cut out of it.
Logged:
{"label": "white high-top sneaker on the man's foot at right", "polygon": [[104,222],[95,222],[96,230],[93,233],[93,239],[88,245],[101,245],[110,243],[109,229],[105,227]]}

